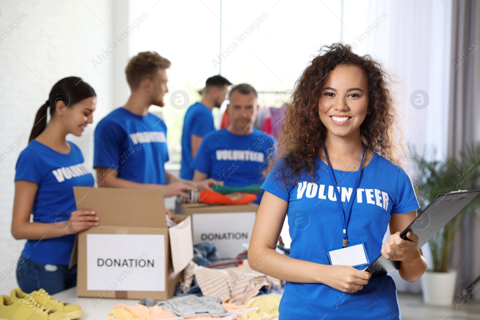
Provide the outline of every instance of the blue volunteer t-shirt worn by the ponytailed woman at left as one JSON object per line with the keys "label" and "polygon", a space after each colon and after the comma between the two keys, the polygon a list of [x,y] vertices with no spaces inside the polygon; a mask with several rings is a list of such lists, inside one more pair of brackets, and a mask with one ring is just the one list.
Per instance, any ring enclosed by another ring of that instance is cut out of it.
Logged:
{"label": "blue volunteer t-shirt worn by the ponytailed woman at left", "polygon": [[[82,152],[69,143],[70,153],[60,154],[32,140],[18,157],[15,181],[31,181],[38,186],[32,208],[33,222],[70,220],[70,213],[76,210],[73,187],[93,187],[95,184],[92,173],[84,166]],[[67,265],[74,242],[75,235],[27,240],[22,256],[39,263]]]}

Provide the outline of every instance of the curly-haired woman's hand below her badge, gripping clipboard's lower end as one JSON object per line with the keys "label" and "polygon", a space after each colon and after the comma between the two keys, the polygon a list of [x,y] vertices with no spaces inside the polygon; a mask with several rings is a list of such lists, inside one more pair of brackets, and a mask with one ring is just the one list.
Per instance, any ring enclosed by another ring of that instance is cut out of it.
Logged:
{"label": "curly-haired woman's hand below her badge, gripping clipboard's lower end", "polygon": [[327,265],[322,283],[342,292],[352,293],[361,290],[365,284],[368,284],[371,276],[372,273],[350,266]]}

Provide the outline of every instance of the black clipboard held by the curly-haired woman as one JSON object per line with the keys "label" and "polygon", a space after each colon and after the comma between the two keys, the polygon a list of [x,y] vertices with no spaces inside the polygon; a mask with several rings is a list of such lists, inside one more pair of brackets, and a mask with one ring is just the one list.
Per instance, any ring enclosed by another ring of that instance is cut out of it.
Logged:
{"label": "black clipboard held by the curly-haired woman", "polygon": [[[444,227],[457,213],[480,194],[480,190],[453,191],[439,194],[432,202],[408,225],[400,237],[407,239],[407,232],[411,231],[419,237],[417,248],[423,247],[440,229]],[[400,261],[386,260],[378,256],[365,271],[372,273],[372,277],[393,272],[400,268]]]}

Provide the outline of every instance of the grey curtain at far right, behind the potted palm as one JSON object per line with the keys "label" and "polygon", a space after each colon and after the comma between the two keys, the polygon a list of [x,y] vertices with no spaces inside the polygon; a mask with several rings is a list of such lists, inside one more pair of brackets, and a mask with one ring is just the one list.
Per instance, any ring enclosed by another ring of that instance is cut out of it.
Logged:
{"label": "grey curtain at far right, behind the potted palm", "polygon": [[[480,139],[480,1],[453,0],[452,53],[448,152],[458,151]],[[456,292],[470,287],[480,273],[480,219],[465,217],[452,246],[450,266],[457,270]],[[480,298],[479,290],[474,297]]]}

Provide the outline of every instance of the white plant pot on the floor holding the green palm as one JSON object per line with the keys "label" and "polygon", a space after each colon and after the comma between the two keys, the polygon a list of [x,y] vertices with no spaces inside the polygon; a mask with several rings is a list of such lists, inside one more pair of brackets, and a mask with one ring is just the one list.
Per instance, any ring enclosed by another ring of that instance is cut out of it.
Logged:
{"label": "white plant pot on the floor holding the green palm", "polygon": [[456,270],[449,272],[427,271],[421,276],[423,302],[431,306],[453,304]]}

